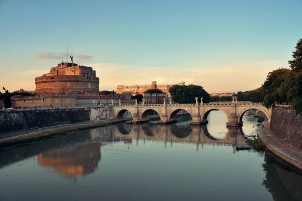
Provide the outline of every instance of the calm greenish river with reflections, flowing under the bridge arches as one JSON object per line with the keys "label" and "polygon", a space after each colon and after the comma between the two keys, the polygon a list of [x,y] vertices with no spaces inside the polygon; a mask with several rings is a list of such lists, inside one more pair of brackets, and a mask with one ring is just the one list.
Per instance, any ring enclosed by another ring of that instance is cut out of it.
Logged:
{"label": "calm greenish river with reflections, flowing under the bridge arches", "polygon": [[237,151],[257,119],[124,123],[0,150],[0,200],[302,200],[302,176],[265,152]]}

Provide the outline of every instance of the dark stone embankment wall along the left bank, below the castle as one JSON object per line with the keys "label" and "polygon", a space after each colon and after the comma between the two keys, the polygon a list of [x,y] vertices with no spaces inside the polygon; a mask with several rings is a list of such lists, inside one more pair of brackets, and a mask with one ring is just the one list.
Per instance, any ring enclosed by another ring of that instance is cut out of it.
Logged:
{"label": "dark stone embankment wall along the left bank, below the castle", "polygon": [[0,134],[25,129],[111,120],[111,107],[0,110]]}

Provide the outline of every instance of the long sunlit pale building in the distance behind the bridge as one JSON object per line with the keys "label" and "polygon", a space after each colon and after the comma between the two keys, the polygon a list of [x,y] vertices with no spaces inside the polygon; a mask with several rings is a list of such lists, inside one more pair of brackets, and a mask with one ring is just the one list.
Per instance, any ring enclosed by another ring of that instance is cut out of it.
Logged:
{"label": "long sunlit pale building in the distance behind the bridge", "polygon": [[[123,92],[130,92],[132,95],[135,94],[143,94],[144,91],[151,89],[151,88],[157,88],[162,90],[167,94],[167,97],[171,97],[169,93],[169,88],[175,84],[161,84],[157,85],[156,81],[152,81],[151,85],[132,85],[132,86],[124,86],[124,85],[117,85],[116,91],[117,93],[123,93]],[[177,83],[177,85],[185,85],[184,82]]]}

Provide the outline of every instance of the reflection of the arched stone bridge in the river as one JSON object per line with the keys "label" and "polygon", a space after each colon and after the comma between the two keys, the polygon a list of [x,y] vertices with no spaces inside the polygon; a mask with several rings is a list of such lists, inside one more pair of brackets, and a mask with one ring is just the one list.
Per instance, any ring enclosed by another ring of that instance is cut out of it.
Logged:
{"label": "reflection of the arched stone bridge in the river", "polygon": [[[237,145],[247,145],[243,138],[242,127],[228,127],[228,132],[224,138],[215,138],[208,132],[207,126],[190,126],[188,125],[158,125],[146,123],[141,125],[118,124],[118,132],[114,133],[114,141],[135,140],[138,145],[139,140],[162,141],[167,147],[168,143],[195,143],[196,150],[199,146],[203,148],[204,144],[217,146],[233,146],[233,153]],[[99,131],[101,132],[101,131]]]}

